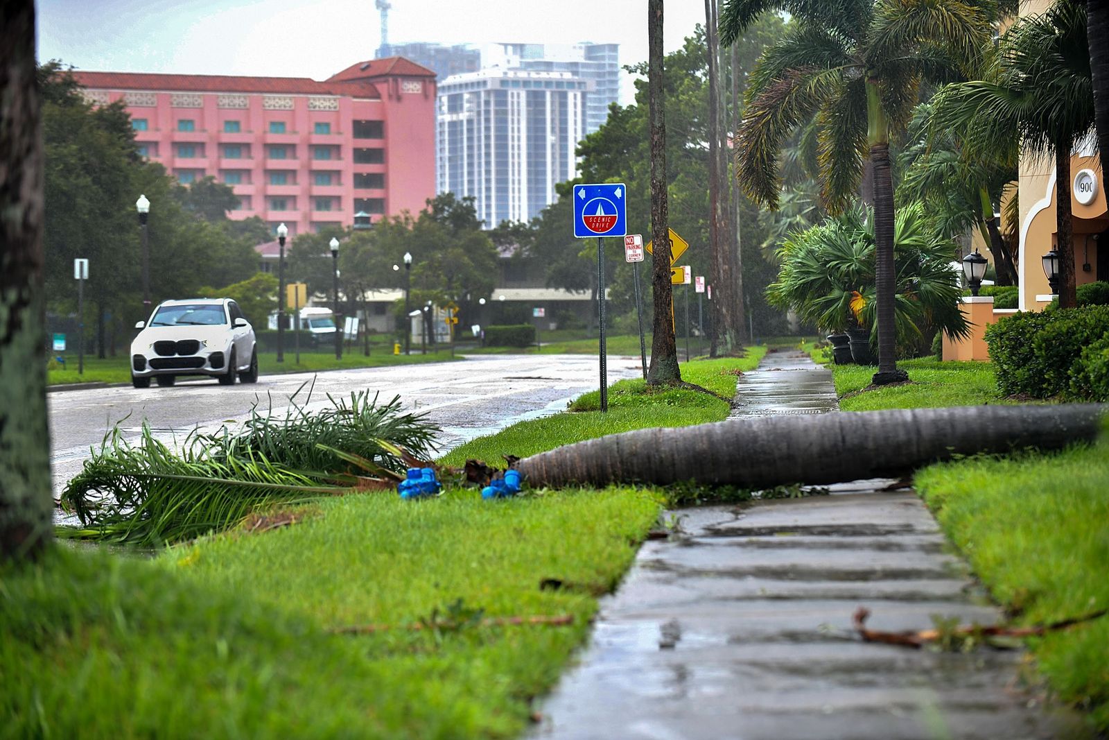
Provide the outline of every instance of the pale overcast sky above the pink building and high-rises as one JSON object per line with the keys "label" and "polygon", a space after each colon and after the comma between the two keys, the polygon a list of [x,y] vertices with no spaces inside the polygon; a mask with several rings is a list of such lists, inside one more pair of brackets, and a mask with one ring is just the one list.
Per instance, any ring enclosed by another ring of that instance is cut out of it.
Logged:
{"label": "pale overcast sky above the pink building and high-rises", "polygon": [[[619,43],[647,59],[647,0],[391,0],[389,43]],[[323,80],[374,57],[374,0],[40,0],[39,59],[89,71]],[[704,3],[667,3],[667,51],[704,22]],[[620,102],[631,102],[625,75]]]}

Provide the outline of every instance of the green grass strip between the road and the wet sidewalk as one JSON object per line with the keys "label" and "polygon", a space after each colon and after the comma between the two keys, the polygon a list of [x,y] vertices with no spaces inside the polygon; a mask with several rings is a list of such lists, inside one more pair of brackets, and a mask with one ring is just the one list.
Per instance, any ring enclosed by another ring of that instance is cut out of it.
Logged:
{"label": "green grass strip between the road and the wet sidewalk", "polygon": [[[731,397],[734,371],[761,354],[682,371]],[[444,462],[495,463],[498,450],[528,455],[729,409],[700,391],[654,393],[637,381],[615,384],[612,398],[608,415],[525,422]],[[415,501],[376,493],[153,560],[57,548],[33,568],[0,569],[0,738],[518,737],[664,498],[634,488],[499,501],[462,488]],[[480,622],[567,615],[569,626]],[[420,622],[428,629],[410,629]],[[329,632],[359,625],[387,629]]]}

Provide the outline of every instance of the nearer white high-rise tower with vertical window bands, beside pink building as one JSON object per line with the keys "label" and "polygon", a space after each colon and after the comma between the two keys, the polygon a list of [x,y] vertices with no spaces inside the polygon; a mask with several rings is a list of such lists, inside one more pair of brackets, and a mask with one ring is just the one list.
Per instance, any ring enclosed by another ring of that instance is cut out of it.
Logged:
{"label": "nearer white high-rise tower with vertical window bands, beside pink building", "polygon": [[487,227],[537,215],[577,172],[592,88],[570,72],[500,67],[441,81],[438,192],[472,195]]}

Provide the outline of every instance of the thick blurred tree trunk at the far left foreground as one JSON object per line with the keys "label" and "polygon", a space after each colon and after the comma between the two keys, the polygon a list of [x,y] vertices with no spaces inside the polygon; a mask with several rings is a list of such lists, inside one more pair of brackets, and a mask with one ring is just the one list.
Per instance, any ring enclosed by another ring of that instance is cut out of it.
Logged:
{"label": "thick blurred tree trunk at the far left foreground", "polygon": [[0,560],[50,540],[42,287],[42,136],[34,3],[4,0],[0,23]]}

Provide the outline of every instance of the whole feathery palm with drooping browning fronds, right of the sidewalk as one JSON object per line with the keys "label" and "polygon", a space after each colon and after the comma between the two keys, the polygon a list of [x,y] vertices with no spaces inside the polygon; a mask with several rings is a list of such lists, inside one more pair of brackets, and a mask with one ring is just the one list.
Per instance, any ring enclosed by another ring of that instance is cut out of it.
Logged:
{"label": "whole feathery palm with drooping browning fronds, right of the sidewalk", "polygon": [[878,372],[875,384],[907,376],[894,358],[894,191],[889,135],[903,129],[924,81],[968,74],[990,38],[986,12],[963,2],[917,0],[730,0],[722,43],[759,13],[790,12],[794,23],[751,75],[736,131],[740,182],[757,203],[777,205],[777,152],[815,119],[822,197],[842,211],[864,164],[873,178],[877,240]]}

